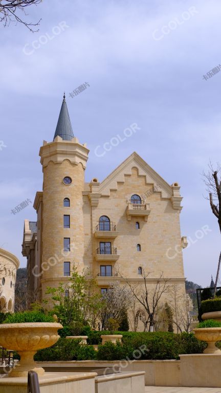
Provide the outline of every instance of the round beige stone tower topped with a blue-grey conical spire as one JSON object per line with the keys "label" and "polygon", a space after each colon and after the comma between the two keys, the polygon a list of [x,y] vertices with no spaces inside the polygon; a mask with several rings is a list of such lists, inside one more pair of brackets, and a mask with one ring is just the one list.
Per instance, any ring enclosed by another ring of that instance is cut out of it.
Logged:
{"label": "round beige stone tower topped with a blue-grey conical spire", "polygon": [[73,263],[83,269],[82,191],[89,149],[74,137],[65,95],[53,142],[43,142],[41,293],[66,280]]}

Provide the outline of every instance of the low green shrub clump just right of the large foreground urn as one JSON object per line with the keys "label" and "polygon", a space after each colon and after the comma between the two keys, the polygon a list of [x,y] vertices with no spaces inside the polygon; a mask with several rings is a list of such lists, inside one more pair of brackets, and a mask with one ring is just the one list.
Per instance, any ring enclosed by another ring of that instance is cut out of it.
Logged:
{"label": "low green shrub clump just right of the large foreground urn", "polygon": [[56,360],[90,360],[96,358],[96,352],[91,345],[80,345],[79,340],[60,338],[49,348],[37,351],[34,356],[35,361],[56,361]]}

